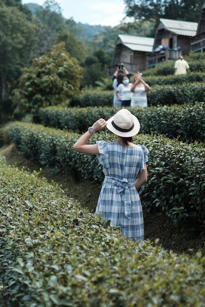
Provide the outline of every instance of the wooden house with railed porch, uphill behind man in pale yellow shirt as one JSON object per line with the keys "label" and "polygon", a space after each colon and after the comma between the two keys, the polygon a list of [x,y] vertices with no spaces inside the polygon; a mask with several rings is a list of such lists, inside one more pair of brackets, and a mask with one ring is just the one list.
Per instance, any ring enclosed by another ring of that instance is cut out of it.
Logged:
{"label": "wooden house with railed porch, uphill behind man in pale yellow shirt", "polygon": [[149,67],[163,60],[175,60],[191,50],[191,39],[197,33],[198,23],[160,18],[149,54]]}

